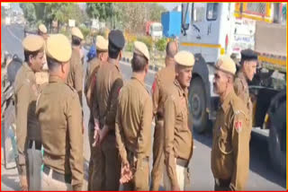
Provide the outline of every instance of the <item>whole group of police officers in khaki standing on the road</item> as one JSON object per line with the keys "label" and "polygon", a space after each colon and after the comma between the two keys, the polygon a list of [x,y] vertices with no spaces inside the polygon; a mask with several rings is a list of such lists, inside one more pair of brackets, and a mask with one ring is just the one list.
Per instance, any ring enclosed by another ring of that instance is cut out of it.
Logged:
{"label": "whole group of police officers in khaki standing on the road", "polygon": [[[162,177],[166,190],[193,189],[187,89],[193,54],[168,42],[166,67],[157,72],[149,93],[144,43],[134,42],[132,76],[124,83],[122,32],[113,30],[108,39],[97,36],[96,56],[88,62],[84,81],[84,37],[78,28],[71,33],[72,46],[62,34],[48,37],[44,25],[39,35],[23,39],[25,61],[14,83],[22,190],[158,190]],[[215,61],[213,91],[220,96],[211,146],[215,190],[243,190],[247,183],[252,128],[247,81],[256,73],[257,55],[250,49],[241,55],[238,73],[230,57]],[[49,82],[39,86],[35,73],[43,65],[48,65]],[[83,188],[83,92],[90,109],[88,188]]]}

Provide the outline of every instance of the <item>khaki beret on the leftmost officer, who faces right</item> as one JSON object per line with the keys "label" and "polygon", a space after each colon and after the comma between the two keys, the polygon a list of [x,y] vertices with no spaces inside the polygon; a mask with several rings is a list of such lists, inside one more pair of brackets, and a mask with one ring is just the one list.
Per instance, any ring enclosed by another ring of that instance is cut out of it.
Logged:
{"label": "khaki beret on the leftmost officer, who faces right", "polygon": [[29,35],[23,39],[22,45],[26,51],[38,51],[44,48],[44,39],[39,35]]}

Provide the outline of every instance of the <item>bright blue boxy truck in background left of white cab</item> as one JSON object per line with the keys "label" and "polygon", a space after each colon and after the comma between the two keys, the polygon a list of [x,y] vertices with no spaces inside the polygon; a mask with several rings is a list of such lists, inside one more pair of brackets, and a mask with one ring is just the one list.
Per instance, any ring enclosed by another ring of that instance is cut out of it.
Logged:
{"label": "bright blue boxy truck in background left of white cab", "polygon": [[163,34],[166,38],[179,37],[181,34],[181,12],[171,11],[161,14]]}

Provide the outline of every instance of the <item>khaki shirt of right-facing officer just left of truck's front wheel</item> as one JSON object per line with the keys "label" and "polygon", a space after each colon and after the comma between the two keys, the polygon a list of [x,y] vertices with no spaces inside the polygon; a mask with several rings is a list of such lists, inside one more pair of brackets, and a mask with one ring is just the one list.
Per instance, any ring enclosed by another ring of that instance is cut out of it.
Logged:
{"label": "khaki shirt of right-facing officer just left of truck's front wheel", "polygon": [[164,132],[166,170],[171,184],[177,186],[175,159],[190,161],[193,153],[193,135],[190,131],[188,110],[188,91],[183,90],[175,79],[167,89],[167,99],[164,104]]}

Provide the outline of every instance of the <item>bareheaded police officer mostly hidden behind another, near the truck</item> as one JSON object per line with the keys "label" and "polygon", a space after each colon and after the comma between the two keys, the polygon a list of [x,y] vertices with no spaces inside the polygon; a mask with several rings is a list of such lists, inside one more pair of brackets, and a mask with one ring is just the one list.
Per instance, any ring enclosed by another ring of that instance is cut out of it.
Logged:
{"label": "bareheaded police officer mostly hidden behind another, near the truck", "polygon": [[155,117],[155,131],[153,143],[153,169],[151,172],[152,185],[151,190],[157,191],[162,179],[164,166],[164,121],[163,121],[163,105],[164,90],[166,84],[171,84],[175,80],[175,54],[178,48],[175,41],[169,41],[166,45],[166,67],[160,70],[152,85],[153,115]]}

